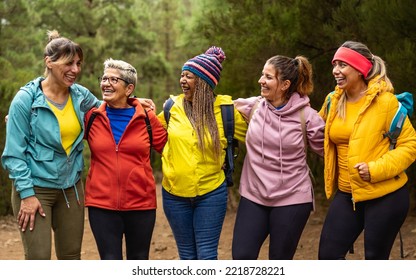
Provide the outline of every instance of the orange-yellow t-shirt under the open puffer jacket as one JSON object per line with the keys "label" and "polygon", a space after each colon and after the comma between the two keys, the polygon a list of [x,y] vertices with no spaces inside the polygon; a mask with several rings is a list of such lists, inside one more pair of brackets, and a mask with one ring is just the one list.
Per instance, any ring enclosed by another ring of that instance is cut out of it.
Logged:
{"label": "orange-yellow t-shirt under the open puffer jacket", "polygon": [[338,189],[343,192],[351,193],[348,172],[348,146],[355,121],[364,101],[365,98],[361,98],[356,102],[347,102],[345,120],[336,117],[329,131],[329,138],[337,147]]}

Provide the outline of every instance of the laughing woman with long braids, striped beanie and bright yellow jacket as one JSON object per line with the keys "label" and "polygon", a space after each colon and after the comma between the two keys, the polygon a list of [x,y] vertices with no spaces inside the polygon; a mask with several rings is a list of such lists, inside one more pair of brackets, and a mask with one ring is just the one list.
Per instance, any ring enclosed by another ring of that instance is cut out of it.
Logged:
{"label": "laughing woman with long braids, striped beanie and bright yellow jacket", "polygon": [[[182,260],[218,257],[228,193],[220,106],[233,103],[214,93],[224,59],[213,46],[188,60],[179,80],[183,93],[171,96],[169,120],[159,114],[169,135],[162,153],[163,209]],[[236,110],[234,119],[234,137],[244,142],[247,124]]]}

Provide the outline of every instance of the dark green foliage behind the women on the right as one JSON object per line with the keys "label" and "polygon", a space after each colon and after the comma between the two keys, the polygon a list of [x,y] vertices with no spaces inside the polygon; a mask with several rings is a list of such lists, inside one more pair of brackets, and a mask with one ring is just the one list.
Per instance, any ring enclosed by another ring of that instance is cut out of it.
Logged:
{"label": "dark green foliage behind the women on the right", "polygon": [[[192,36],[203,37],[225,50],[227,60],[218,86],[222,92],[234,97],[257,95],[257,80],[267,58],[276,54],[304,55],[314,69],[311,105],[319,110],[325,95],[335,86],[332,56],[347,40],[365,43],[386,60],[398,92],[415,88],[410,73],[415,65],[416,10],[410,8],[410,0],[209,2]],[[310,157],[311,169],[322,184],[322,162]],[[414,165],[408,170],[412,186]]]}

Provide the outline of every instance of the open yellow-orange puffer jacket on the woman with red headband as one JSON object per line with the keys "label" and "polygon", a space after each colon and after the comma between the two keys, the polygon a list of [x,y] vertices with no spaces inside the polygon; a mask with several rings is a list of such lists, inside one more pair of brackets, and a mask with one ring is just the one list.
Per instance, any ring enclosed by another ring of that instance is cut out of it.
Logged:
{"label": "open yellow-orange puffer jacket on the woman with red headband", "polygon": [[[368,92],[350,136],[348,148],[348,169],[352,189],[353,202],[360,202],[382,197],[391,193],[407,182],[405,173],[416,159],[416,133],[407,117],[402,132],[397,139],[396,148],[389,150],[389,139],[383,137],[388,132],[390,123],[397,111],[398,101],[394,94],[383,92],[384,81],[371,80]],[[342,95],[338,87],[331,97],[331,106],[326,113],[327,99],[319,112],[324,120],[324,181],[327,198],[331,198],[337,190],[337,152],[329,139],[329,131],[335,118],[338,101]],[[354,165],[367,162],[371,182],[363,181]]]}

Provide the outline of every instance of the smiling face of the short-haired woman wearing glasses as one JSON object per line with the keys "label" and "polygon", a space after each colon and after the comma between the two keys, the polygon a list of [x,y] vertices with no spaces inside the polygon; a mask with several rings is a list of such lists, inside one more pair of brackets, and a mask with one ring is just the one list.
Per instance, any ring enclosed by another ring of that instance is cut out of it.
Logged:
{"label": "smiling face of the short-haired woman wearing glasses", "polygon": [[[108,78],[121,78],[120,72],[114,68],[107,68],[104,71],[102,80],[105,82],[100,83],[101,93],[103,95],[103,100],[107,102],[109,107],[112,108],[125,108],[128,107],[127,99],[130,94],[133,92],[134,85],[127,84],[122,79],[113,79],[117,81],[116,83],[111,83],[111,79]],[[107,79],[104,79],[107,78]]]}

